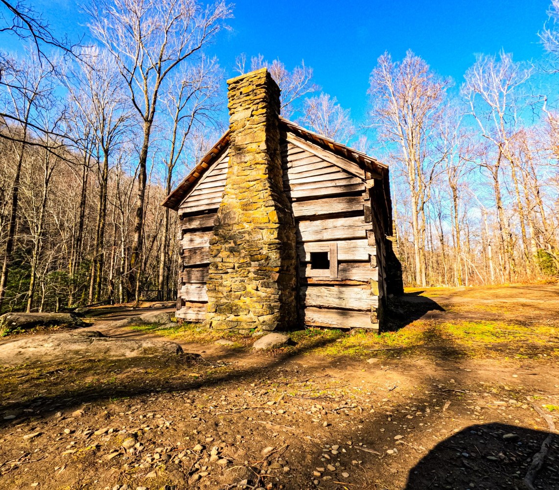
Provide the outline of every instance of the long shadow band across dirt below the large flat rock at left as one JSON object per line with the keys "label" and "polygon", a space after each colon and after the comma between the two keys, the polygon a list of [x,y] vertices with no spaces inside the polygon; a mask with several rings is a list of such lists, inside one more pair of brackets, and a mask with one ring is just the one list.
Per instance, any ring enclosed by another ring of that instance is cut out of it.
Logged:
{"label": "long shadow band across dirt below the large flat rock at left", "polygon": [[[0,366],[0,392],[4,395],[0,401],[0,413],[18,416],[16,420],[0,421],[0,427],[33,417],[34,413],[48,416],[54,411],[75,409],[84,403],[257,380],[293,357],[332,342],[335,342],[335,338],[316,338],[310,344],[295,346],[275,357],[273,352],[262,352],[260,356],[264,363],[258,362],[242,369],[235,369],[226,362],[206,361],[196,354],[121,359],[98,359],[92,356],[91,359]],[[325,361],[324,365],[328,364]]]}

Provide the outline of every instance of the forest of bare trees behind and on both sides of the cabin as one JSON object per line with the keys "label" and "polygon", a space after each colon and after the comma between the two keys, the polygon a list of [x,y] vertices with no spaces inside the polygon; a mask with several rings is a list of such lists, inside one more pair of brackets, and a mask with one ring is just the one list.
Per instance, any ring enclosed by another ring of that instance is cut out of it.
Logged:
{"label": "forest of bare trees behind and on both sides of the cabin", "polygon": [[[233,7],[94,0],[91,46],[29,3],[0,8],[25,46],[0,54],[0,312],[173,299],[177,216],[159,203],[228,125],[225,70],[205,50]],[[459,89],[411,51],[381,55],[362,125],[304,63],[240,54],[233,71],[268,67],[283,116],[389,164],[406,284],[555,280],[559,0],[550,14],[544,62],[479,55]]]}

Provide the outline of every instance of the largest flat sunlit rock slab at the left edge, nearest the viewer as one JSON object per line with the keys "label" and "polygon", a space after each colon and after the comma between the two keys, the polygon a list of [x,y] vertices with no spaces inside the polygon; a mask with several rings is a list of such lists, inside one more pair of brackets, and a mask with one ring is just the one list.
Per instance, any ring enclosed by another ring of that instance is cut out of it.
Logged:
{"label": "largest flat sunlit rock slab at the left edge, nearest the viewer", "polygon": [[101,332],[56,333],[0,345],[0,364],[77,357],[138,357],[183,354],[176,342],[105,337]]}

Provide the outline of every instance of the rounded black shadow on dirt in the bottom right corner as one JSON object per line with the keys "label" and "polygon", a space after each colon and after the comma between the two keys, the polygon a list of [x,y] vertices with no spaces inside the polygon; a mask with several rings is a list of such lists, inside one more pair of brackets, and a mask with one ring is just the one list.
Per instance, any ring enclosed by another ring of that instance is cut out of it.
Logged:
{"label": "rounded black shadow on dirt in the bottom right corner", "polygon": [[[527,488],[522,480],[547,436],[547,432],[503,423],[466,427],[439,442],[410,470],[404,490]],[[559,489],[558,458],[554,437],[547,464],[534,479],[535,488]]]}

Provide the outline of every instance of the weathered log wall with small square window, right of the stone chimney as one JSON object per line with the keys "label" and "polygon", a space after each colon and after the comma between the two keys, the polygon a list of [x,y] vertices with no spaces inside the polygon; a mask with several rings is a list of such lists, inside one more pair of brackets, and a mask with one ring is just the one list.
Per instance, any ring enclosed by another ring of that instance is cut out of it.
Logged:
{"label": "weathered log wall with small square window, right of the stone chimney", "polygon": [[[309,326],[378,328],[376,247],[364,172],[292,135],[283,147],[285,191],[292,199],[299,254],[301,321]],[[329,268],[311,254],[327,252]]]}

